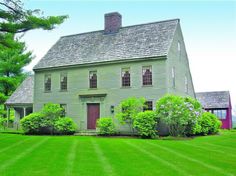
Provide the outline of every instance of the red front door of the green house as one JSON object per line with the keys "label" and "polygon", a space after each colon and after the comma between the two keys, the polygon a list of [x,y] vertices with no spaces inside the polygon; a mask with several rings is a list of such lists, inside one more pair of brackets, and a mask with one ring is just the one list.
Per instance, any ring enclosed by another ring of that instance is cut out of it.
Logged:
{"label": "red front door of the green house", "polygon": [[96,121],[99,118],[99,104],[87,104],[87,128],[96,129]]}

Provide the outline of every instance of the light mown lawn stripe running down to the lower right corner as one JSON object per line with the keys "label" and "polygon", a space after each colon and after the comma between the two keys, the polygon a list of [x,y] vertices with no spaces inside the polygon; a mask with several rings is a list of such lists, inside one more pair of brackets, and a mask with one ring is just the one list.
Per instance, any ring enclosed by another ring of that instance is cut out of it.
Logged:
{"label": "light mown lawn stripe running down to the lower right corner", "polygon": [[205,163],[205,162],[202,162],[201,160],[198,160],[198,159],[193,158],[192,156],[188,156],[188,155],[182,154],[182,153],[180,153],[180,152],[178,152],[178,151],[175,151],[175,150],[173,150],[173,149],[170,149],[169,147],[162,146],[162,145],[160,145],[160,144],[154,144],[154,143],[151,143],[151,142],[146,142],[145,144],[152,145],[152,146],[157,147],[157,148],[159,148],[159,149],[161,149],[161,150],[165,150],[165,151],[170,152],[170,153],[172,153],[172,154],[174,154],[174,155],[177,155],[178,157],[184,158],[184,159],[186,159],[186,160],[188,160],[188,161],[191,161],[191,162],[195,162],[195,163],[197,163],[197,164],[199,164],[199,165],[201,165],[201,166],[203,166],[203,167],[206,167],[206,168],[208,168],[208,169],[215,170],[215,171],[217,171],[217,172],[219,172],[219,173],[221,173],[221,174],[223,174],[223,175],[226,175],[226,176],[234,176],[234,174],[232,174],[232,173],[227,173],[227,172],[225,172],[223,169],[221,169],[221,168],[219,168],[219,167],[213,166],[213,165],[211,165],[211,164],[207,164],[207,163]]}

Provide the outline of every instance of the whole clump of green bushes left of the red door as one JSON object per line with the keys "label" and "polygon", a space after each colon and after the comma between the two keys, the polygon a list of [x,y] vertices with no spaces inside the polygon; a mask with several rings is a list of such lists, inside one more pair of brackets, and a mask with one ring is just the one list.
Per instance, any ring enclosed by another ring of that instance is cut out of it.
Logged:
{"label": "whole clump of green bushes left of the red door", "polygon": [[40,112],[32,113],[21,119],[25,134],[74,134],[75,122],[61,117],[62,108],[58,104],[46,104]]}

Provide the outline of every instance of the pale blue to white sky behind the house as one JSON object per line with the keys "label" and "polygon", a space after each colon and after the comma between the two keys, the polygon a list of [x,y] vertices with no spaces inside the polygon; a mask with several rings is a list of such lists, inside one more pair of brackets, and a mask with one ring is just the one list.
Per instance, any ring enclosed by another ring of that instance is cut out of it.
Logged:
{"label": "pale blue to white sky behind the house", "polygon": [[24,2],[26,8],[41,9],[46,16],[69,15],[53,31],[25,34],[22,40],[35,55],[26,70],[32,70],[61,36],[103,29],[105,13],[121,13],[123,26],[179,18],[195,91],[229,90],[236,106],[236,1]]}

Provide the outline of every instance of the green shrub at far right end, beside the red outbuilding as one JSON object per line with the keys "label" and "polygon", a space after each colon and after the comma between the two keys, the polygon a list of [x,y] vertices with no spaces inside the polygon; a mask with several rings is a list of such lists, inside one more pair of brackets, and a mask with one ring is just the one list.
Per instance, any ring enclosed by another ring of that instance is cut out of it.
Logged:
{"label": "green shrub at far right end, beside the red outbuilding", "polygon": [[204,112],[197,121],[196,134],[208,135],[216,134],[221,127],[221,121],[215,114]]}

